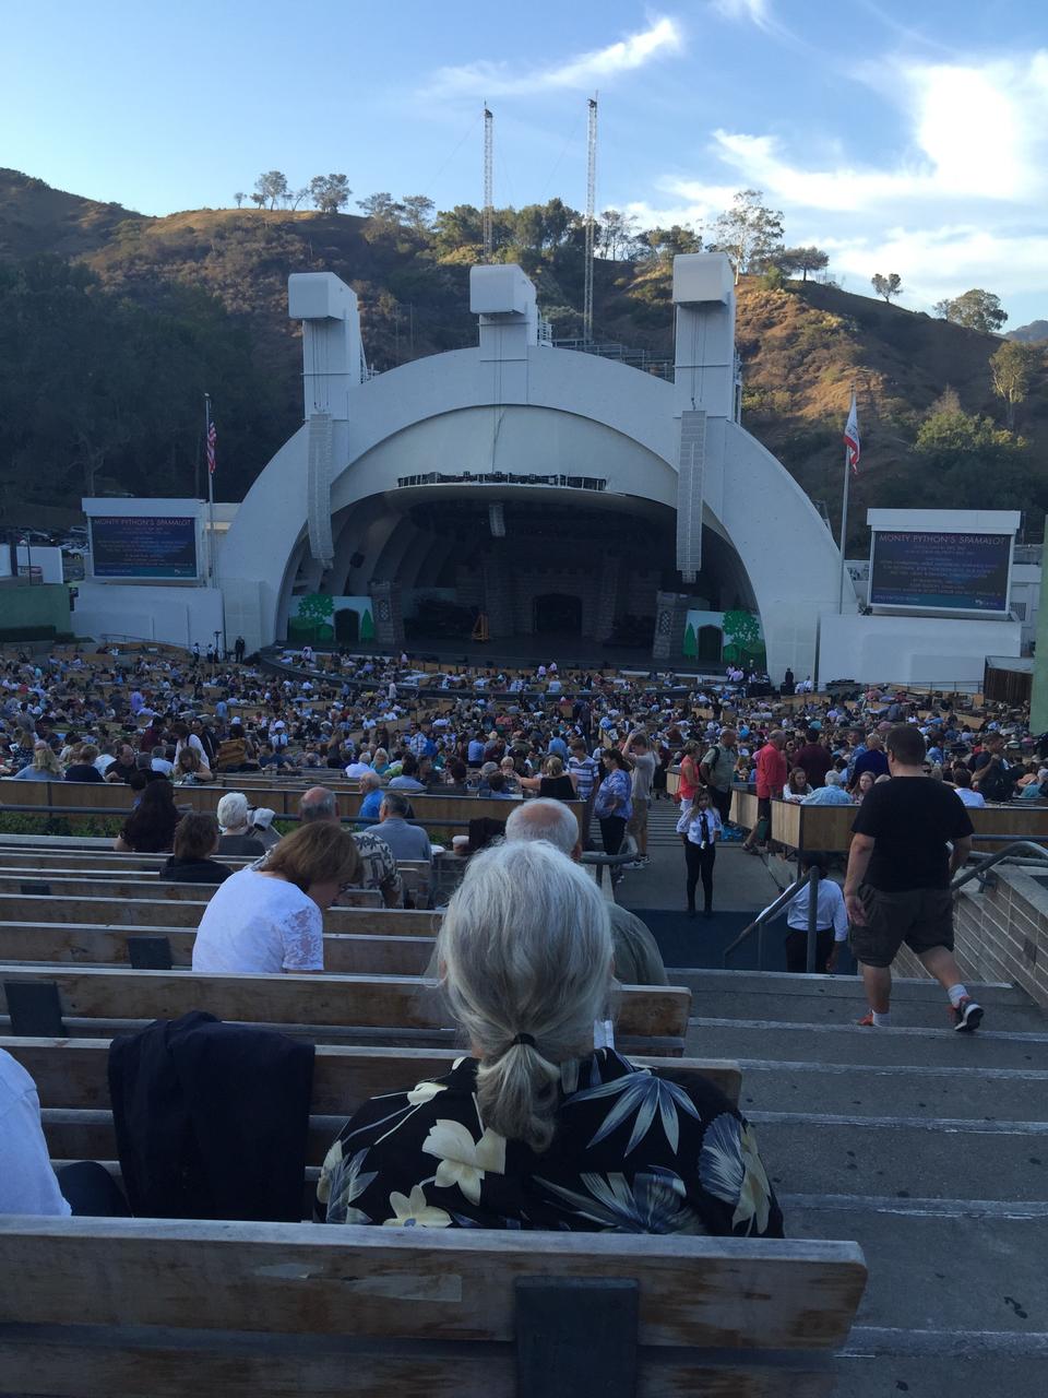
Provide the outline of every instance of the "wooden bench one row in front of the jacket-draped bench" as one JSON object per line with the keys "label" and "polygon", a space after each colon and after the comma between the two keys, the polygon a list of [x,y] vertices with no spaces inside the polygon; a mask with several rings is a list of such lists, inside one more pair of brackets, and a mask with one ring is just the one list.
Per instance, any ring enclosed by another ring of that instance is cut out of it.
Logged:
{"label": "wooden bench one row in front of the jacket-draped bench", "polygon": [[[31,994],[50,1001],[49,987],[57,991],[59,1018],[38,1032],[59,1037],[68,1029],[96,1037],[99,1025],[177,1019],[191,1009],[321,1040],[374,1042],[377,1030],[383,1043],[409,1037],[429,1044],[449,1043],[456,1033],[436,983],[412,976],[221,976],[7,962],[0,963],[0,1012],[10,1014],[11,987],[27,983],[43,986]],[[623,987],[616,1016],[622,1047],[681,1057],[690,1004],[692,993],[682,986]]]}

